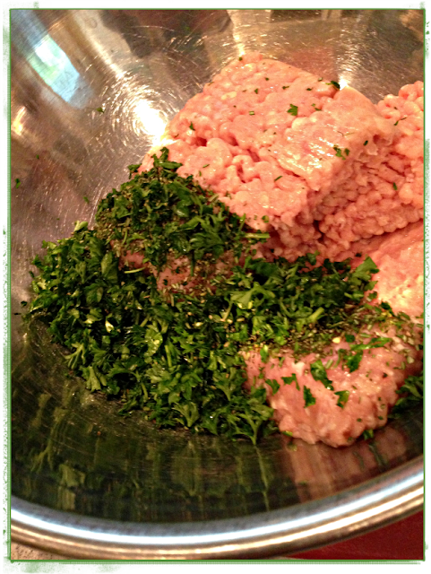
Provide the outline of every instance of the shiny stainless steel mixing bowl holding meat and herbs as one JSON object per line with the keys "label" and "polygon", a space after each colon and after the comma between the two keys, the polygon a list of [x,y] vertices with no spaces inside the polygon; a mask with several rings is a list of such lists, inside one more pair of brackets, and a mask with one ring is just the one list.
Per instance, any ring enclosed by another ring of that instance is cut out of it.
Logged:
{"label": "shiny stainless steel mixing bowl holding meat and herbs", "polygon": [[[42,240],[93,222],[168,120],[248,50],[377,101],[423,77],[420,10],[18,10],[12,26],[12,311]],[[89,394],[12,318],[12,534],[69,556],[289,554],[421,508],[422,411],[349,448],[155,431]]]}

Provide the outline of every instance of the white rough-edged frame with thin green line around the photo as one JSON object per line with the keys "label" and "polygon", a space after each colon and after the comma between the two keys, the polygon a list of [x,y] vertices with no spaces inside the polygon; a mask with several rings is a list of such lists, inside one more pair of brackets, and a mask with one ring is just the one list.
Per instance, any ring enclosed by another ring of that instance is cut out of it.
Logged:
{"label": "white rough-edged frame with thin green line around the photo", "polygon": [[[26,561],[26,560],[11,560],[11,213],[10,213],[10,195],[12,189],[11,183],[11,164],[9,150],[11,146],[11,101],[10,101],[10,85],[11,85],[11,31],[10,31],[10,14],[12,10],[43,10],[43,9],[55,9],[55,10],[79,10],[79,9],[129,9],[129,10],[151,10],[154,8],[171,10],[171,9],[189,9],[189,10],[205,10],[214,9],[213,6],[204,7],[191,7],[191,6],[178,6],[176,0],[168,0],[165,6],[151,6],[151,8],[142,8],[139,6],[130,6],[127,2],[119,3],[118,6],[88,6],[88,7],[73,7],[73,6],[51,6],[49,5],[49,0],[40,0],[39,2],[8,2],[3,6],[3,48],[4,48],[4,65],[3,65],[3,101],[4,101],[4,114],[3,114],[3,126],[4,126],[4,147],[5,147],[5,161],[4,161],[4,176],[6,184],[6,193],[4,194],[6,198],[6,218],[3,225],[3,242],[4,242],[4,261],[3,261],[3,274],[4,274],[4,284],[3,284],[3,299],[4,299],[4,314],[3,314],[3,324],[4,324],[4,342],[3,342],[3,353],[4,353],[4,386],[3,386],[3,400],[4,400],[4,546],[3,546],[3,571],[7,574],[12,573],[22,573],[22,574],[87,574],[87,572],[94,572],[100,574],[114,574],[116,572],[129,572],[134,571],[142,567],[152,568],[152,567],[184,567],[184,566],[194,566],[199,564],[217,565],[217,564],[233,564],[238,566],[248,565],[248,564],[290,564],[290,565],[326,565],[326,564],[346,564],[352,566],[362,566],[366,564],[384,564],[384,565],[420,565],[423,561],[356,561],[356,560],[345,560],[345,561],[314,561],[314,560],[295,560],[295,559],[277,559],[273,560],[203,560],[203,561],[109,561],[109,560],[62,560],[61,564],[57,561],[42,560],[42,561]],[[223,7],[223,9],[226,8]],[[232,6],[236,9],[260,9],[256,6]],[[374,9],[374,10],[388,10],[392,6],[315,6],[315,7],[301,7],[301,8],[283,8],[280,6],[269,6],[267,8],[277,8],[280,10],[315,10],[315,9]],[[418,3],[407,3],[398,7],[393,7],[394,10],[400,9],[418,9],[424,12],[424,79],[426,78],[427,65],[429,63],[429,22],[427,22],[427,3],[425,1]],[[222,8],[220,8],[222,9]],[[263,8],[262,8],[263,9]],[[424,120],[425,121],[425,120]],[[425,124],[426,126],[426,124]],[[430,136],[429,133],[425,135],[425,157],[428,158],[428,162],[425,162],[425,180],[430,181]],[[425,222],[428,234],[430,233],[430,193],[429,187],[425,190]],[[429,242],[425,241],[425,282],[424,282],[424,294],[425,294],[425,335],[424,344],[430,334],[430,316],[429,316],[429,304],[430,304],[430,246]],[[424,353],[425,355],[425,353]],[[425,357],[424,357],[425,361]],[[426,375],[424,375],[426,377]],[[424,417],[425,418],[425,417]],[[425,434],[425,433],[424,433]],[[425,439],[425,436],[424,436]],[[429,549],[429,536],[424,534],[424,561],[427,561],[427,551]]]}

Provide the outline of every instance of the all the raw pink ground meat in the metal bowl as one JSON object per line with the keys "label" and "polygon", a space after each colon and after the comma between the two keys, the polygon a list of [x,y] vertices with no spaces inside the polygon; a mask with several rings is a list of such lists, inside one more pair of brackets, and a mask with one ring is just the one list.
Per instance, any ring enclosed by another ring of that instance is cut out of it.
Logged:
{"label": "all the raw pink ground meat in the metal bowl", "polygon": [[[353,257],[358,265],[369,255],[380,269],[379,300],[412,318],[423,312],[423,83],[375,106],[358,91],[339,91],[313,74],[249,54],[187,102],[140,171],[152,167],[162,146],[169,160],[183,164],[178,175],[193,175],[230,211],[246,213],[252,228],[271,233],[264,256],[292,261],[318,250],[320,262]],[[349,445],[366,429],[384,426],[396,390],[421,369],[415,346],[421,335],[411,335],[410,344],[394,337],[389,347],[364,352],[351,373],[328,368],[333,390],[311,376],[315,355],[295,362],[286,350],[280,366],[280,357],[263,363],[251,352],[247,387],[266,387],[280,431],[309,443]],[[340,348],[349,344],[335,339],[327,352],[336,359]],[[299,390],[283,381],[292,374]],[[275,394],[265,379],[280,385]],[[305,407],[304,387],[315,404]],[[334,394],[340,391],[349,391],[342,408]]]}

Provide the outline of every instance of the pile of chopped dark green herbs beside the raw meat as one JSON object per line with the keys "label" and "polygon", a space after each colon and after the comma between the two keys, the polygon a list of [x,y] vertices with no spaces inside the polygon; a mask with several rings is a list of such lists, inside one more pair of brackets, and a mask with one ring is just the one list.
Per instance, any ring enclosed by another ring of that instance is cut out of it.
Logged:
{"label": "pile of chopped dark green herbs beside the raw meat", "polygon": [[[354,342],[364,324],[402,327],[409,317],[370,305],[375,293],[364,298],[377,271],[369,258],[355,271],[349,261],[316,267],[314,255],[294,264],[255,258],[268,236],[192,177],[177,176],[179,166],[166,148],[151,170],[133,177],[138,166],[130,166],[129,181],[100,202],[94,230],[77,222],[71,238],[44,243],[47,254],[33,262],[30,316],[47,321],[70,351],[68,367],[91,391],[119,399],[121,413],[136,409],[160,427],[255,443],[275,425],[265,389],[243,388],[247,350],[263,362],[287,346],[300,357],[323,352],[335,335]],[[127,252],[142,255],[139,268]],[[167,265],[178,273],[178,260],[190,281],[160,287],[159,273]],[[340,360],[356,370],[363,349],[389,341],[369,335]],[[313,372],[331,383],[321,360]]]}

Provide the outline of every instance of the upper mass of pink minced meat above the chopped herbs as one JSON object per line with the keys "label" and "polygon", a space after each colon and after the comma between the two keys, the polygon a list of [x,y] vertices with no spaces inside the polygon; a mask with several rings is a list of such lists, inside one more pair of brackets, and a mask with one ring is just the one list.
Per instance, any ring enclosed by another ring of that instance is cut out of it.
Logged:
{"label": "upper mass of pink minced meat above the chopped herbs", "polygon": [[421,86],[375,106],[351,88],[248,54],[174,117],[169,159],[231,212],[246,213],[252,228],[269,230],[275,256],[319,250],[336,259],[353,241],[422,217]]}

